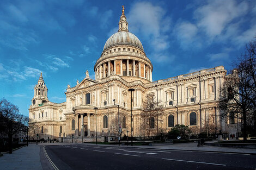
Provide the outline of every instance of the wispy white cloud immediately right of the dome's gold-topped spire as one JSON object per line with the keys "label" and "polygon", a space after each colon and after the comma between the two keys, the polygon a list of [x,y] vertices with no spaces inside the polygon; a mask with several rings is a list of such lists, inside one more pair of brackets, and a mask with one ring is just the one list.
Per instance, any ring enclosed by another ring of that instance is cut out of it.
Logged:
{"label": "wispy white cloud immediately right of the dome's gold-topped spire", "polygon": [[[142,10],[143,9],[143,10]],[[166,10],[150,2],[137,2],[132,5],[127,14],[129,30],[135,35],[142,36],[145,43],[148,43],[150,55],[157,62],[170,61],[174,55],[167,54],[169,48],[170,17]],[[111,30],[117,32],[118,28]]]}

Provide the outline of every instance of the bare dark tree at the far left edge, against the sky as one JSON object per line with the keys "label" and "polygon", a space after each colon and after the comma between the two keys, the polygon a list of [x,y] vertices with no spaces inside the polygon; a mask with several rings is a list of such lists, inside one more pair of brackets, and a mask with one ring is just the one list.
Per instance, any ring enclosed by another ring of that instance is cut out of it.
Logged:
{"label": "bare dark tree at the far left edge, against the sky", "polygon": [[0,122],[8,135],[9,153],[11,154],[13,153],[13,135],[27,130],[25,124],[28,122],[28,117],[20,114],[16,105],[2,98],[0,100]]}

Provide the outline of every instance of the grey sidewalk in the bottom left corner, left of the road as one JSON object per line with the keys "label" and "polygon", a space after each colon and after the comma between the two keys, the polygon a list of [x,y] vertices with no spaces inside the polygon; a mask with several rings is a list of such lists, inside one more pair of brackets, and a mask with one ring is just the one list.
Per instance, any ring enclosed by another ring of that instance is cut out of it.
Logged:
{"label": "grey sidewalk in the bottom left corner, left of the road", "polygon": [[6,153],[0,157],[1,169],[31,169],[41,170],[40,146],[29,144],[14,150],[12,154]]}

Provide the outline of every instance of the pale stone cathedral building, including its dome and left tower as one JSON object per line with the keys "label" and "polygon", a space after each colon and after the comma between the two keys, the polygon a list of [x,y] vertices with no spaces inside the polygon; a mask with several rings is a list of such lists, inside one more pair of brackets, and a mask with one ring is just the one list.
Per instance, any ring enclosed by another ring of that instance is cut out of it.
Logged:
{"label": "pale stone cathedral building, including its dome and left tower", "polygon": [[[89,78],[87,71],[86,77],[81,82],[77,80],[76,86],[68,85],[66,102],[59,104],[48,100],[47,87],[40,76],[34,87],[29,118],[41,127],[41,137],[71,139],[74,135],[80,141],[81,138],[83,141],[94,141],[96,123],[98,137],[113,135],[109,134],[111,123],[118,114],[113,99],[125,114],[125,131],[131,132],[131,92],[128,91],[131,88],[135,89],[132,95],[133,136],[142,136],[139,130],[140,114],[148,94],[157,96],[164,106],[164,121],[158,127],[164,132],[173,126],[169,121],[174,125],[185,124],[202,129],[209,115],[223,131],[228,130],[226,122],[220,119],[217,107],[220,87],[227,73],[224,67],[152,82],[153,65],[144,53],[142,43],[128,31],[124,12],[118,32],[107,40],[94,71],[95,80]],[[95,107],[98,108],[96,121]]]}

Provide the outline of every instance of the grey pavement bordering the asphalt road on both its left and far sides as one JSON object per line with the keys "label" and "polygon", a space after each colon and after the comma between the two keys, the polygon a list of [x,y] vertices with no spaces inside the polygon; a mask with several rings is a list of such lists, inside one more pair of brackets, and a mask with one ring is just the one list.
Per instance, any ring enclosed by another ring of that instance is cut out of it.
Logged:
{"label": "grey pavement bordering the asphalt road on both its left and far sides", "polygon": [[[5,153],[0,157],[1,169],[53,169],[50,162],[42,151],[44,146],[50,145],[64,145],[72,143],[39,143],[29,144],[27,147],[14,150],[13,154]],[[84,143],[86,145],[94,145],[92,143]],[[119,147],[116,145],[98,144],[98,146]],[[131,146],[120,146],[132,148]],[[195,152],[220,152],[220,153],[237,153],[237,154],[252,154],[256,155],[256,149],[247,148],[229,148],[216,146],[197,147],[197,143],[178,143],[168,144],[164,146],[133,146],[134,148],[149,148],[149,149],[163,149],[163,150],[187,150]]]}

